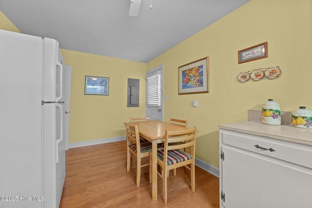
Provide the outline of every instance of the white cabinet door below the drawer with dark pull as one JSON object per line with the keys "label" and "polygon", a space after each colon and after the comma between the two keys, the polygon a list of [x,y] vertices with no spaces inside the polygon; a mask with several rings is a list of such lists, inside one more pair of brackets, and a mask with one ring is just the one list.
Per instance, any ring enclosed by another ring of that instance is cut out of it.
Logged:
{"label": "white cabinet door below the drawer with dark pull", "polygon": [[226,208],[311,208],[312,170],[222,147]]}

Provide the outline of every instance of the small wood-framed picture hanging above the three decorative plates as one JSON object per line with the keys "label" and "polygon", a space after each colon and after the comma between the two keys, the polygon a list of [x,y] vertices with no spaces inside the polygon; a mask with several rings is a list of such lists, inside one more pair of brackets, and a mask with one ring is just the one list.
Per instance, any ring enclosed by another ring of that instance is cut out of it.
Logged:
{"label": "small wood-framed picture hanging above the three decorative plates", "polygon": [[251,62],[268,57],[268,42],[238,51],[238,63]]}

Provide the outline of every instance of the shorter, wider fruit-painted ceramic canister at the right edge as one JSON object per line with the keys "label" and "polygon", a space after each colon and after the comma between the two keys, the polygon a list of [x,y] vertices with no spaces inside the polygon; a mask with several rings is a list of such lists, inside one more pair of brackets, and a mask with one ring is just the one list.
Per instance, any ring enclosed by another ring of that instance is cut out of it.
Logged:
{"label": "shorter, wider fruit-painted ceramic canister at the right edge", "polygon": [[307,110],[305,106],[292,111],[292,126],[299,128],[312,128],[312,111]]}

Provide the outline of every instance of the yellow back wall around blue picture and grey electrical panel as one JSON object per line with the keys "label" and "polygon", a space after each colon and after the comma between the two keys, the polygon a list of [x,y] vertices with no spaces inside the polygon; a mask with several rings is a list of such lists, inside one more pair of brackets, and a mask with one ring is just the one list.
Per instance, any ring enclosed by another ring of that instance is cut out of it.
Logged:
{"label": "yellow back wall around blue picture and grey electrical panel", "polygon": [[[124,121],[145,116],[146,63],[61,49],[72,66],[69,143],[125,135]],[[109,95],[84,95],[85,76],[109,78]],[[128,78],[140,80],[139,107],[127,107]]]}

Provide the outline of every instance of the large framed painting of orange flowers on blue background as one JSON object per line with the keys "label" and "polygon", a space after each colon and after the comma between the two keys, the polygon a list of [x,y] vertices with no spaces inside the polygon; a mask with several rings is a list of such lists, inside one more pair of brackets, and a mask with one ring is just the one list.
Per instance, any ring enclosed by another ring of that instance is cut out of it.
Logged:
{"label": "large framed painting of orange flowers on blue background", "polygon": [[209,57],[178,67],[179,95],[209,92]]}

